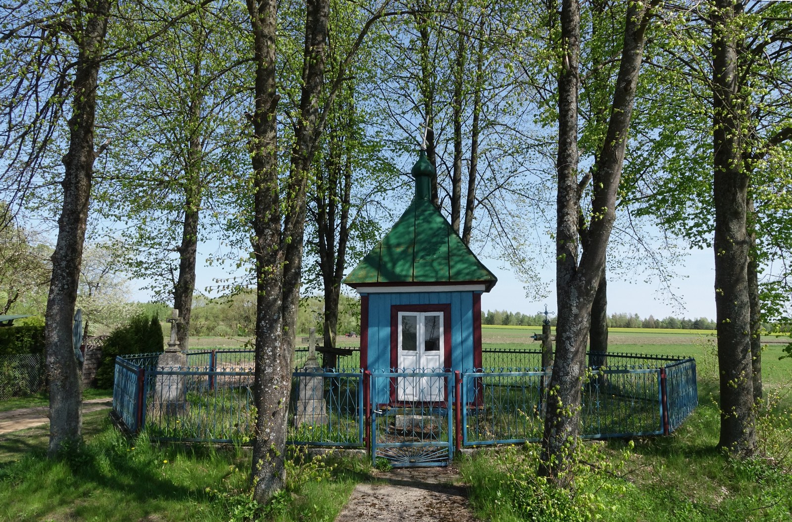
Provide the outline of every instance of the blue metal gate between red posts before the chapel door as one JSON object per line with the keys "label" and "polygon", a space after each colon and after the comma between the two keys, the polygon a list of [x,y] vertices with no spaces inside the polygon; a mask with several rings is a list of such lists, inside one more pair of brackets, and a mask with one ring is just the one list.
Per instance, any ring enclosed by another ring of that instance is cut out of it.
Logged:
{"label": "blue metal gate between red posts before the chapel door", "polygon": [[371,374],[371,458],[393,467],[447,466],[454,455],[449,371]]}

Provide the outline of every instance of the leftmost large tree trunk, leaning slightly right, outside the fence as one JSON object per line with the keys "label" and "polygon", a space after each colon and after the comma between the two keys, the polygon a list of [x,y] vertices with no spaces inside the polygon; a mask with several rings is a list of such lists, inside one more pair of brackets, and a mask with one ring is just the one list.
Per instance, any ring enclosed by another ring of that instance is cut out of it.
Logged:
{"label": "leftmost large tree trunk, leaning slightly right, outside the fence", "polygon": [[[86,238],[88,204],[93,178],[97,83],[111,2],[89,0],[86,17],[74,24],[78,59],[69,124],[69,151],[63,157],[63,209],[58,220],[58,241],[52,254],[52,280],[47,299],[44,345],[50,387],[50,440],[48,455],[63,444],[82,439],[82,379],[74,347],[72,320],[77,301],[82,246]],[[84,22],[84,23],[83,23]],[[103,146],[105,147],[105,146]]]}

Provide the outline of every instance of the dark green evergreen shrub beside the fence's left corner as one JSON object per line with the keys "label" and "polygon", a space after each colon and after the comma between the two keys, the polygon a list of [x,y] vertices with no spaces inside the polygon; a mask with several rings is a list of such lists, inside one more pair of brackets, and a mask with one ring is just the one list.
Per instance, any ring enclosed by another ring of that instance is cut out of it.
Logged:
{"label": "dark green evergreen shrub beside the fence's left corner", "polygon": [[112,388],[116,356],[162,352],[162,343],[159,319],[147,314],[136,315],[128,325],[113,330],[102,346],[101,360],[97,367],[97,387]]}

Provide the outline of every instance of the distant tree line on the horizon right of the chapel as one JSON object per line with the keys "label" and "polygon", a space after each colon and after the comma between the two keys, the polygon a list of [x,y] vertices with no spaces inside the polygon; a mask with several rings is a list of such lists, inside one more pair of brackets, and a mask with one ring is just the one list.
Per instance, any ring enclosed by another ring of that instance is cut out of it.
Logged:
{"label": "distant tree line on the horizon right of the chapel", "polygon": [[[539,326],[544,321],[544,314],[522,314],[520,312],[509,311],[487,311],[482,312],[482,324],[502,325],[502,326]],[[550,317],[550,324],[555,326],[556,318]],[[656,319],[653,315],[648,318],[641,318],[638,314],[611,314],[607,318],[609,328],[680,328],[683,330],[715,330],[715,322],[700,317],[696,319],[676,318],[668,316],[663,319]]]}

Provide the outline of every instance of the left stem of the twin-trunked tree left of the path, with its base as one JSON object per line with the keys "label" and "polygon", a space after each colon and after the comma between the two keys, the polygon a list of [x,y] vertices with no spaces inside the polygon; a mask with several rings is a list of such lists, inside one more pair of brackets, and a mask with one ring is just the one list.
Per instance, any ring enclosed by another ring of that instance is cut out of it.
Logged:
{"label": "left stem of the twin-trunked tree left of the path, with its base", "polygon": [[284,350],[281,311],[284,253],[280,250],[280,194],[276,155],[277,2],[248,0],[256,61],[255,112],[250,155],[253,163],[253,252],[256,257],[256,440],[253,496],[264,504],[284,486],[287,397],[291,353]]}

